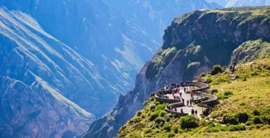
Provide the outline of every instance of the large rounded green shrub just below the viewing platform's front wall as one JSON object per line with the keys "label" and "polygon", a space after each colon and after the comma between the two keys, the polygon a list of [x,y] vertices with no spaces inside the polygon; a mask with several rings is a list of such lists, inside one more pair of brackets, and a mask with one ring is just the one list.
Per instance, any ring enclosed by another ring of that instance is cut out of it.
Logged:
{"label": "large rounded green shrub just below the viewing platform's front wall", "polygon": [[194,116],[188,115],[186,117],[181,117],[180,119],[181,128],[196,128],[198,126],[197,119]]}

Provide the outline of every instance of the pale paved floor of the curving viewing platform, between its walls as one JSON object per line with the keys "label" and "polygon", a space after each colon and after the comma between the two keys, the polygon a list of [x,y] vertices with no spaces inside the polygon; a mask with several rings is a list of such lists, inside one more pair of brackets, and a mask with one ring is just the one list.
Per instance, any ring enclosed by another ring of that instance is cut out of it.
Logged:
{"label": "pale paved floor of the curving viewing platform, between its walls", "polygon": [[[190,90],[190,89],[188,89],[188,87],[186,87],[186,91],[188,91],[188,90]],[[194,109],[194,110],[197,110],[197,112],[198,112],[197,113],[197,117],[199,117],[199,119],[201,119],[200,114],[202,114],[203,108],[201,108],[199,106],[195,106],[194,103],[192,103],[192,106],[190,106],[190,103],[187,106],[186,101],[191,99],[190,94],[186,94],[184,92],[184,88],[183,87],[181,87],[180,92],[182,93],[182,98],[184,99],[185,106],[177,108],[177,112],[181,112],[181,108],[182,108],[184,113],[188,113],[188,115],[191,115],[191,109]],[[174,94],[174,95],[177,95],[177,96],[180,97],[179,94]],[[173,99],[172,94],[168,94],[167,96],[169,97],[169,99]],[[194,95],[193,97],[195,99],[197,99],[197,95]],[[198,97],[198,99],[201,99],[201,98],[203,98],[203,97],[200,97],[200,96]]]}

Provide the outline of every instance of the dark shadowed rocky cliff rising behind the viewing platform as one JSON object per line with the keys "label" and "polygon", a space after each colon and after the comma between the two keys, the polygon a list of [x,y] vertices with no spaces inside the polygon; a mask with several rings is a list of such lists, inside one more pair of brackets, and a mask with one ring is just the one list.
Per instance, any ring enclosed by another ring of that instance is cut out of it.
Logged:
{"label": "dark shadowed rocky cliff rising behind the viewing platform", "polygon": [[215,64],[228,66],[231,59],[252,59],[238,57],[244,48],[236,48],[249,40],[269,43],[269,13],[270,7],[228,8],[197,10],[174,19],[165,30],[163,46],[137,75],[134,90],[120,97],[114,110],[94,121],[83,137],[115,136],[143,108],[150,92],[165,84],[190,80]]}

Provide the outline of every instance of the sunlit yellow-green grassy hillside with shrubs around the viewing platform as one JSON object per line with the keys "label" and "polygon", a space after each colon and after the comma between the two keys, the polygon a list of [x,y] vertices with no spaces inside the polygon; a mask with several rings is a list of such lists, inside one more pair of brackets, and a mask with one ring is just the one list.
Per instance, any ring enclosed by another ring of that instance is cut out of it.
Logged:
{"label": "sunlit yellow-green grassy hillside with shrubs around the viewing platform", "polygon": [[[210,74],[210,73],[208,73]],[[270,55],[228,71],[206,75],[220,103],[208,117],[174,117],[153,97],[120,128],[117,137],[267,137],[270,135]]]}

